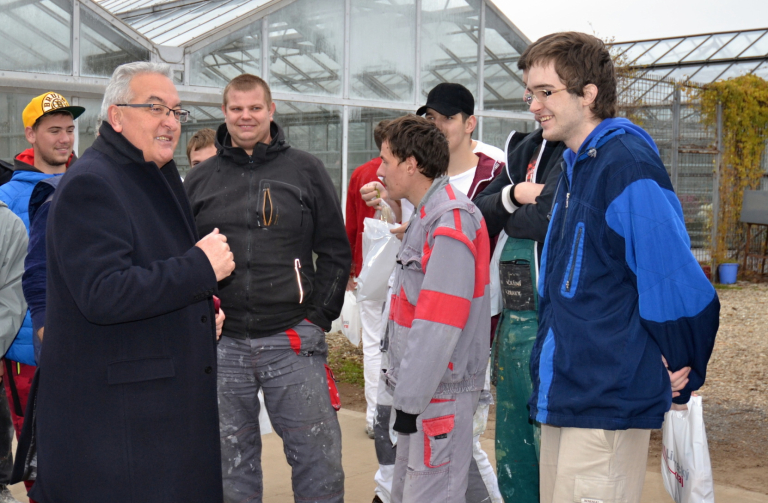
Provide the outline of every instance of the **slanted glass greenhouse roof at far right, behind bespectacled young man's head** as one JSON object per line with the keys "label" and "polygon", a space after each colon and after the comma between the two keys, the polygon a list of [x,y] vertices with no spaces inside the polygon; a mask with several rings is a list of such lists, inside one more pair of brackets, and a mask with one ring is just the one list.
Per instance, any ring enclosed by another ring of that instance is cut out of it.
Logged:
{"label": "slanted glass greenhouse roof at far right, behind bespectacled young man's head", "polygon": [[768,28],[611,44],[645,76],[708,84],[739,75],[768,78]]}

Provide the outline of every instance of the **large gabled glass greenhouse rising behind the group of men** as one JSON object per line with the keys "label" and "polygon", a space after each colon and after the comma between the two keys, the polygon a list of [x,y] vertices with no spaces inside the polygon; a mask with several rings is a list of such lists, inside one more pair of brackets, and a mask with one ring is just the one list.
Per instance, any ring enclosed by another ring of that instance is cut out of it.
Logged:
{"label": "large gabled glass greenhouse rising behind the group of men", "polygon": [[517,60],[530,41],[489,0],[6,0],[0,12],[0,159],[27,148],[21,111],[48,90],[86,113],[76,152],[98,129],[112,71],[130,61],[172,66],[187,139],[223,122],[221,91],[260,75],[288,141],[325,163],[342,200],[352,170],[378,155],[372,128],[413,112],[440,82],[476,99],[475,137],[503,146],[530,131]]}

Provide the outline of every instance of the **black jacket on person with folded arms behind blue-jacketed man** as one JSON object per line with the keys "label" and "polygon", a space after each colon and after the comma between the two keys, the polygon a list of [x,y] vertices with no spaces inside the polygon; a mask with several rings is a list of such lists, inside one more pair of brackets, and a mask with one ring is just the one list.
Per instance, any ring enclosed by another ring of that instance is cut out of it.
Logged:
{"label": "black jacket on person with folded arms behind blue-jacketed man", "polygon": [[[502,171],[473,201],[483,213],[488,234],[491,237],[498,235],[503,229],[510,237],[537,241],[539,257],[541,257],[544,238],[547,235],[549,213],[560,177],[560,162],[563,159],[565,144],[548,141],[544,145],[539,169],[536,172],[536,183],[543,183],[544,189],[536,198],[536,204],[520,205],[512,200],[512,203],[519,208],[514,213],[509,213],[501,201],[501,191],[510,183],[525,181],[528,163],[543,141],[542,133],[542,129],[537,129],[520,141],[516,147],[508,149],[507,169]],[[514,191],[510,191],[511,197],[514,197],[513,194]]]}

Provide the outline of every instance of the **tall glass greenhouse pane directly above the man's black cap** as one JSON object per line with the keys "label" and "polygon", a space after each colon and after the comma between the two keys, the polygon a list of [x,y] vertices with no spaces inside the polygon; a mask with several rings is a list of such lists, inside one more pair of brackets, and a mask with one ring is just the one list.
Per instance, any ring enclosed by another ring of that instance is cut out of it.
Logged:
{"label": "tall glass greenhouse pane directly above the man's black cap", "polygon": [[477,96],[479,32],[480,0],[422,0],[418,103],[441,82],[457,82]]}

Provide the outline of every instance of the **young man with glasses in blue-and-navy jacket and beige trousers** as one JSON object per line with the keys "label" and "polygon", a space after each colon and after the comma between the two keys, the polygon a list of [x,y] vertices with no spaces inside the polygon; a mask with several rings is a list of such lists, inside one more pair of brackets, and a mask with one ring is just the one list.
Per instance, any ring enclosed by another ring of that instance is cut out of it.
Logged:
{"label": "young man with glasses in blue-and-navy jacket and beige trousers", "polygon": [[531,354],[541,501],[638,502],[650,430],[704,383],[720,304],[656,145],[615,117],[603,42],[555,33],[527,52],[524,99],[544,139],[568,147]]}

